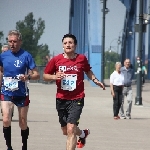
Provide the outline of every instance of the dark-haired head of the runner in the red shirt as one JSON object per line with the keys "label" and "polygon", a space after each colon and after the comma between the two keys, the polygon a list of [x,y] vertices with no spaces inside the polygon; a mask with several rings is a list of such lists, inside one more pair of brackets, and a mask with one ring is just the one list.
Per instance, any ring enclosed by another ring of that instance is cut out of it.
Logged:
{"label": "dark-haired head of the runner in the red shirt", "polygon": [[66,34],[62,38],[63,49],[67,54],[74,53],[77,46],[77,39],[72,34]]}

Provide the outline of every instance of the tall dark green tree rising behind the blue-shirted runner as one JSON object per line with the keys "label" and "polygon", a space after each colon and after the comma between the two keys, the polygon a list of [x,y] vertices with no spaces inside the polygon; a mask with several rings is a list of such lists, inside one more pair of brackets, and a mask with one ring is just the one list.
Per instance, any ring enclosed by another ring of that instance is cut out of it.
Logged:
{"label": "tall dark green tree rising behind the blue-shirted runner", "polygon": [[44,63],[43,57],[49,55],[48,45],[38,45],[44,29],[45,22],[41,18],[37,21],[33,13],[29,13],[23,21],[16,23],[16,29],[22,33],[22,48],[28,50],[38,65]]}

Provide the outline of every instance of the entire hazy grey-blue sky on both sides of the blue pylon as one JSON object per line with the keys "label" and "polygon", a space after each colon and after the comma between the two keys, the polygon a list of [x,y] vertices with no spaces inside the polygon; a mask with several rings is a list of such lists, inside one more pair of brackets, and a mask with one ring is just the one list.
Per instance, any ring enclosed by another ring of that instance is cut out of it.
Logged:
{"label": "entire hazy grey-blue sky on both sides of the blue pylon", "polygon": [[[107,8],[110,12],[106,15],[106,48],[121,34],[125,16],[125,6],[119,0],[107,0]],[[70,0],[0,0],[0,31],[6,37],[9,30],[15,29],[16,22],[33,12],[36,20],[45,20],[39,44],[47,44],[51,54],[58,54],[63,52],[62,37],[69,32],[69,9]],[[117,46],[117,41],[111,44]]]}

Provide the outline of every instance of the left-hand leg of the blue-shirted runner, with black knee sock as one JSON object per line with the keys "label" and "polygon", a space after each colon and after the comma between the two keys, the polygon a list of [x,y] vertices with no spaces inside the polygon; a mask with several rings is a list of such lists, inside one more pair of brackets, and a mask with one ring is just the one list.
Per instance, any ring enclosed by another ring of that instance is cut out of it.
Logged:
{"label": "left-hand leg of the blue-shirted runner, with black knee sock", "polygon": [[11,147],[11,114],[13,109],[13,103],[10,101],[1,101],[1,108],[3,114],[3,133],[6,140],[8,150],[12,150]]}

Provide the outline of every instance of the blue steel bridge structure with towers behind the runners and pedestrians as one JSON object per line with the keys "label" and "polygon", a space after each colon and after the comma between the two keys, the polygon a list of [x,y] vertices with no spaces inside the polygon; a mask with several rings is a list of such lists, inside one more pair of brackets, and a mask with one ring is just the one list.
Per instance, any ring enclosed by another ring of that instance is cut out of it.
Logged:
{"label": "blue steel bridge structure with towers behind the runners and pedestrians", "polygon": [[[102,65],[102,2],[104,0],[71,0],[70,1],[70,20],[69,32],[74,34],[78,39],[77,52],[84,54],[92,66],[92,70],[101,81],[103,73]],[[130,58],[133,66],[136,66],[137,57],[137,29],[139,16],[138,1],[139,0],[119,0],[126,7],[124,16],[124,24],[121,36],[120,61],[123,64],[125,58]],[[150,0],[143,0],[143,14],[150,14]],[[148,7],[149,6],[149,7]],[[148,24],[147,24],[148,23]],[[143,32],[143,63],[148,64],[148,79],[150,79],[150,25],[149,21],[143,26],[147,27],[147,31]],[[144,28],[145,29],[145,28]],[[129,36],[129,31],[130,36]],[[148,38],[148,40],[146,39]],[[148,45],[146,44],[148,41]],[[148,55],[145,57],[145,48],[148,48]],[[136,68],[135,68],[136,71]],[[86,77],[85,77],[86,78]],[[91,82],[94,86],[94,84]]]}

